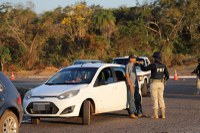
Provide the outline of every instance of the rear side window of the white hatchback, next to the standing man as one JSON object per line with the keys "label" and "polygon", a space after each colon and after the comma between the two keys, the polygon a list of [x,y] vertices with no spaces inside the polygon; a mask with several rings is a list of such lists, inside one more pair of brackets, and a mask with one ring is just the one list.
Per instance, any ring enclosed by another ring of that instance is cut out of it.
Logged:
{"label": "rear side window of the white hatchback, next to the standing man", "polygon": [[115,72],[117,82],[125,81],[125,70],[124,70],[124,68],[115,67],[115,68],[113,68],[113,70]]}

